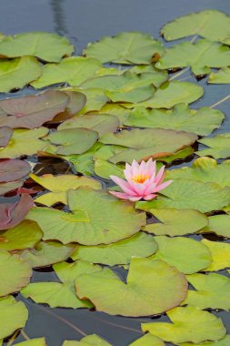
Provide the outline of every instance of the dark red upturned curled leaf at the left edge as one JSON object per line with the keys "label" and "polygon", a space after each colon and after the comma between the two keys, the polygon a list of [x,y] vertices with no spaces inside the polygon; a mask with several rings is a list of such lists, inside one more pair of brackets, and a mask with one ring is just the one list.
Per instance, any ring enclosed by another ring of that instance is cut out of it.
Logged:
{"label": "dark red upturned curled leaf at the left edge", "polygon": [[0,204],[0,229],[18,225],[33,206],[33,199],[28,194],[22,195],[16,203]]}

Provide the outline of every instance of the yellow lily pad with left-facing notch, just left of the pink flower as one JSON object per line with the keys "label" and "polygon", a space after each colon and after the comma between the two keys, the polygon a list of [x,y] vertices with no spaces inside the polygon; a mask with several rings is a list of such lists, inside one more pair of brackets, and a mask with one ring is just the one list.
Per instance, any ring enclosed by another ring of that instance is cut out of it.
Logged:
{"label": "yellow lily pad with left-facing notch, just left of the pink flower", "polygon": [[57,202],[67,204],[66,192],[70,188],[102,188],[102,184],[98,180],[68,174],[63,174],[61,176],[45,174],[42,177],[37,177],[35,174],[30,174],[30,178],[33,178],[37,184],[51,191],[35,198],[35,202],[44,204],[47,207],[50,207]]}

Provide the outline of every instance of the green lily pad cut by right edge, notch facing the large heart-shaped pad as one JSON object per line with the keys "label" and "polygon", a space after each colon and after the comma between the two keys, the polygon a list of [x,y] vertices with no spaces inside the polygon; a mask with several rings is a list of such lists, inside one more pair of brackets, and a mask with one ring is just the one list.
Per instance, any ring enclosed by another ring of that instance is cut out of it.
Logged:
{"label": "green lily pad cut by right edge, notch facing the large heart-shaped pad", "polygon": [[195,290],[188,290],[185,304],[195,305],[200,309],[230,310],[230,279],[224,275],[194,274],[187,276],[188,282]]}

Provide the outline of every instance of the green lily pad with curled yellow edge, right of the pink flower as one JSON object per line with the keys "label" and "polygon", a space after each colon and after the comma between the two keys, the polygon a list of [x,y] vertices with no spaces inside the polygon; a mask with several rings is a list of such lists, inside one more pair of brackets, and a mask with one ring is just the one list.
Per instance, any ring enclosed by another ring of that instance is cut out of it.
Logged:
{"label": "green lily pad with curled yellow edge, right of the pink flower", "polygon": [[230,160],[217,164],[213,158],[197,158],[191,168],[183,167],[166,172],[167,179],[193,179],[204,183],[214,182],[220,187],[230,187]]}

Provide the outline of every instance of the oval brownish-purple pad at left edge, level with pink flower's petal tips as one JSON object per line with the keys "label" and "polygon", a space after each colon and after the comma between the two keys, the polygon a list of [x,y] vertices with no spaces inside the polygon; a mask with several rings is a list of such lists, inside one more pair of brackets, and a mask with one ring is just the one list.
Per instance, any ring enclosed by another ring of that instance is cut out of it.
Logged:
{"label": "oval brownish-purple pad at left edge, level with pink flower's petal tips", "polygon": [[30,172],[30,165],[19,159],[5,159],[0,161],[0,182],[14,181],[25,177]]}

